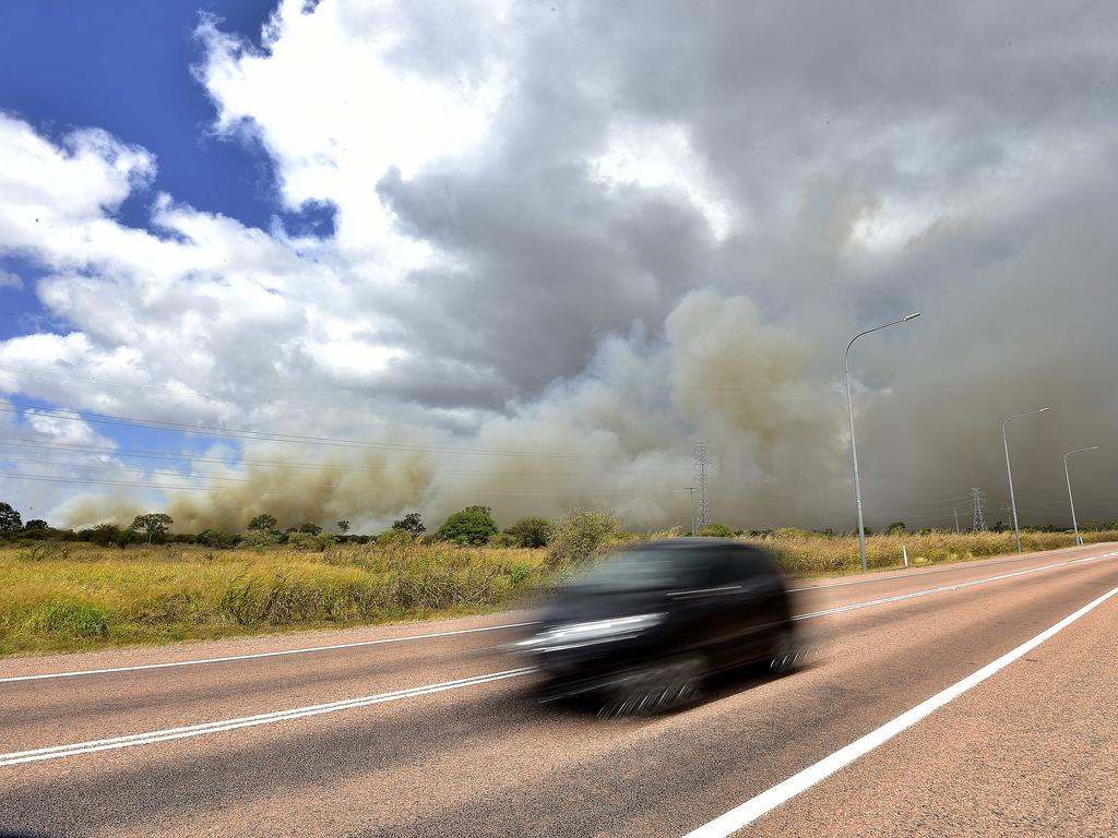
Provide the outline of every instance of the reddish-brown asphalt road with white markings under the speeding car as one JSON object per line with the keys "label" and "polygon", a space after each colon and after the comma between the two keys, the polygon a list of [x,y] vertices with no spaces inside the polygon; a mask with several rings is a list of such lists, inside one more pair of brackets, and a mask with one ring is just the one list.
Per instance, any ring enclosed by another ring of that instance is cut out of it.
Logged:
{"label": "reddish-brown asphalt road with white markings under the speeding car", "polygon": [[815,665],[651,720],[532,702],[520,613],[3,661],[0,834],[1118,835],[1118,545],[803,588]]}

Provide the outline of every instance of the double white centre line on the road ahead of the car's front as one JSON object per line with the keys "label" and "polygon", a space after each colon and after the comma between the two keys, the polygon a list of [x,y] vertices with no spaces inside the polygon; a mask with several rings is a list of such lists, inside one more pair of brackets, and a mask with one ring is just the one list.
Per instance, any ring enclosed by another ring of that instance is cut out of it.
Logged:
{"label": "double white centre line on the road ahead of the car's front", "polygon": [[292,718],[302,718],[304,716],[318,716],[323,713],[338,713],[343,710],[368,707],[373,704],[398,702],[404,698],[415,698],[421,695],[442,693],[447,689],[461,689],[462,687],[489,684],[490,682],[503,680],[504,678],[515,678],[519,675],[524,675],[530,672],[532,672],[531,667],[505,669],[500,673],[475,675],[470,678],[458,678],[457,680],[447,680],[442,684],[428,684],[421,687],[397,689],[391,693],[366,695],[360,698],[347,698],[340,702],[330,702],[329,704],[313,704],[307,707],[282,710],[274,713],[260,713],[259,715],[241,716],[240,718],[226,718],[219,722],[206,722],[203,724],[192,724],[184,727],[169,727],[162,731],[133,733],[126,736],[114,736],[113,739],[75,742],[68,745],[54,745],[51,747],[37,747],[31,751],[16,751],[13,753],[0,754],[0,768],[4,765],[19,765],[25,762],[58,760],[64,756],[77,756],[78,754],[94,753],[96,751],[114,751],[122,747],[133,747],[135,745],[151,745],[157,742],[168,742],[176,739],[201,736],[207,733],[220,733],[221,731],[235,731],[238,727],[254,727],[262,724],[274,724],[276,722],[286,722]]}

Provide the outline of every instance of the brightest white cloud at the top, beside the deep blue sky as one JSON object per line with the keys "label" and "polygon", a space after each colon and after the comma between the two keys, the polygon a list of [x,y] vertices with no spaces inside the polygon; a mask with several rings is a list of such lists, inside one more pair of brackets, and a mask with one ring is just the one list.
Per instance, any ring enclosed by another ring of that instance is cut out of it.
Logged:
{"label": "brightest white cloud at the top, beside the deep blue sky", "polygon": [[401,266],[421,264],[428,249],[392,234],[377,182],[394,166],[408,179],[475,152],[508,86],[505,70],[491,63],[468,77],[435,78],[394,64],[405,37],[396,3],[375,3],[363,17],[337,0],[313,15],[303,6],[281,3],[264,53],[212,20],[199,27],[206,58],[197,75],[218,107],[215,127],[259,137],[290,207],[334,203],[342,247],[372,246]]}

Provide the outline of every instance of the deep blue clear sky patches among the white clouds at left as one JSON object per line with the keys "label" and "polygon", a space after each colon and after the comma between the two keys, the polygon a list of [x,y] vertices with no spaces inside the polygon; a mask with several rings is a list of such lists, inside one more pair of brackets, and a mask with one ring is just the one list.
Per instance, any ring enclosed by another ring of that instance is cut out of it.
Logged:
{"label": "deep blue clear sky patches among the white clouds at left", "polygon": [[[214,105],[191,73],[201,55],[195,30],[202,16],[215,16],[224,30],[258,46],[274,6],[274,0],[127,0],[113,3],[106,15],[100,3],[6,3],[0,8],[0,109],[56,141],[74,128],[100,127],[152,152],[153,182],[117,212],[130,227],[150,229],[151,201],[163,191],[245,225],[266,229],[277,217],[291,231],[329,235],[329,211],[290,212],[280,206],[275,171],[258,144],[209,130]],[[7,255],[0,256],[0,268],[23,279],[21,289],[0,287],[0,340],[68,331],[35,295],[40,265]],[[66,407],[18,398],[39,408]],[[94,427],[136,449],[200,451],[211,441],[165,430]]]}

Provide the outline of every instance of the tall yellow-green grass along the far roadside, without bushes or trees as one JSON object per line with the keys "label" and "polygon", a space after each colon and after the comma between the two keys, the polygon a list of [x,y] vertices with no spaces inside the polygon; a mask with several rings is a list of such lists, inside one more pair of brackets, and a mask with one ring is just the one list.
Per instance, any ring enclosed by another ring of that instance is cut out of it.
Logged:
{"label": "tall yellow-green grass along the far roadside, without bushes or trees", "polygon": [[[1118,532],[1084,533],[1088,542]],[[1071,546],[1065,533],[1022,533],[1024,549]],[[780,530],[760,540],[792,572],[861,569],[858,539]],[[1012,533],[874,535],[870,566],[913,566],[1014,552]],[[394,542],[208,550],[47,543],[0,547],[0,656],[167,644],[483,613],[523,602],[570,572],[543,550]]]}

